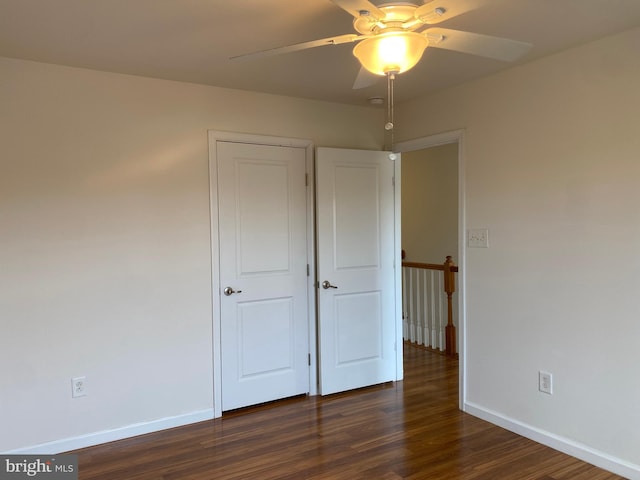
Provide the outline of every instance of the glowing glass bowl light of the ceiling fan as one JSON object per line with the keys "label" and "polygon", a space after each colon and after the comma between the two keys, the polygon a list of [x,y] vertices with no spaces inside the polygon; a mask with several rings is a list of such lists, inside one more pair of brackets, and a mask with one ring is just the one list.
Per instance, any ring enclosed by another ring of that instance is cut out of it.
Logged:
{"label": "glowing glass bowl light of the ceiling fan", "polygon": [[428,45],[429,40],[416,32],[383,32],[362,40],[353,54],[364,68],[376,75],[403,73],[420,61]]}

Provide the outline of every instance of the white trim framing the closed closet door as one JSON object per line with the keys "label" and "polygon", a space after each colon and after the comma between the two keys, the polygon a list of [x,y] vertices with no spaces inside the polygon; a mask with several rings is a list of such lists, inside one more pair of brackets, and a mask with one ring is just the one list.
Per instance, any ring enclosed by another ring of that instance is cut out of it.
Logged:
{"label": "white trim framing the closed closet door", "polygon": [[314,181],[313,181],[313,143],[311,140],[298,138],[272,137],[245,133],[208,131],[209,138],[209,216],[211,219],[211,316],[213,323],[213,415],[222,416],[222,349],[220,305],[218,303],[220,292],[220,249],[218,239],[218,158],[216,153],[217,142],[248,143],[255,145],[275,145],[282,147],[297,147],[305,149],[306,171],[308,175],[307,187],[307,263],[309,264],[309,276],[307,277],[307,292],[309,296],[309,394],[317,395],[317,352],[316,352],[316,295],[314,289],[315,278],[315,251],[314,251]]}

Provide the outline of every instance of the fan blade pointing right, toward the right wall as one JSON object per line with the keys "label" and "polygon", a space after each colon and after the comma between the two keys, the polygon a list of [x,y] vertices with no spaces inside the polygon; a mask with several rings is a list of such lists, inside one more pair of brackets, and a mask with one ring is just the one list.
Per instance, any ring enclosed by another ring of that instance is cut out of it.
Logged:
{"label": "fan blade pointing right, toward the right wall", "polygon": [[449,28],[429,28],[423,33],[429,39],[429,47],[469,53],[503,62],[517,60],[532,47],[530,43]]}

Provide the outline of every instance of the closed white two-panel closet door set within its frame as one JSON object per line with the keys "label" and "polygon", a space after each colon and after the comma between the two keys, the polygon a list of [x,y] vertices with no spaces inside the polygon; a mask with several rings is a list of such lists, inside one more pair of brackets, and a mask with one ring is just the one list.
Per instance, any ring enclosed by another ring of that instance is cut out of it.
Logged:
{"label": "closed white two-panel closet door set within its frame", "polygon": [[216,149],[222,410],[231,410],[309,392],[306,158],[295,147]]}

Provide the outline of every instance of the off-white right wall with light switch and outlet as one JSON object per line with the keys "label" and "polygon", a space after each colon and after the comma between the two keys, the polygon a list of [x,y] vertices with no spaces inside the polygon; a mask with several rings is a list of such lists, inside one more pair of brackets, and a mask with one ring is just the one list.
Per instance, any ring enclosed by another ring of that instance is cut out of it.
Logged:
{"label": "off-white right wall with light switch and outlet", "polygon": [[[465,129],[467,408],[640,478],[640,29],[397,109]],[[437,112],[425,116],[423,111]],[[402,133],[401,133],[402,132]],[[553,374],[552,396],[537,390]]]}

